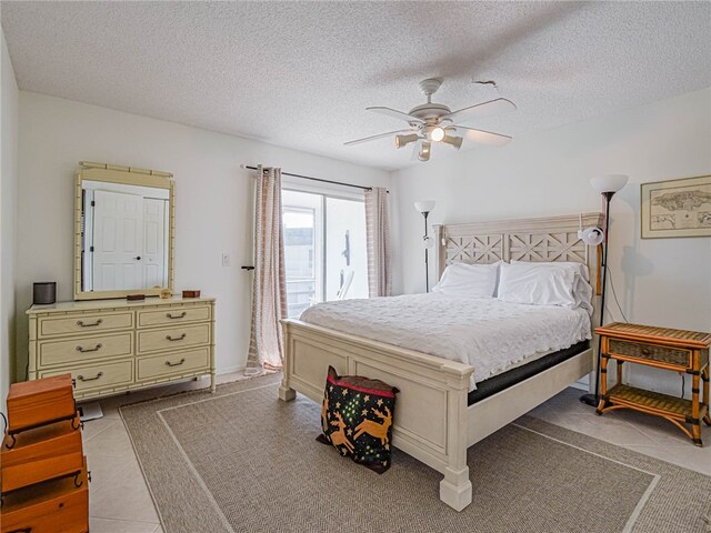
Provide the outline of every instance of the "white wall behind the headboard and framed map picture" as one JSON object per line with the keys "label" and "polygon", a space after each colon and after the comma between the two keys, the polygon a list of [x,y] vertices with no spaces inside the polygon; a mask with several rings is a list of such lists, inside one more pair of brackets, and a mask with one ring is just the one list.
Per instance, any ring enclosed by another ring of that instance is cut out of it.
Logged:
{"label": "white wall behind the headboard and framed map picture", "polygon": [[[408,265],[395,275],[398,291],[424,290],[423,266],[417,266],[423,264],[422,217],[412,202],[437,201],[433,224],[595,211],[601,201],[589,180],[605,173],[630,175],[612,201],[609,261],[627,319],[711,331],[711,239],[641,240],[639,185],[711,173],[711,89],[514,139],[501,149],[441,160],[434,153],[429,163],[394,172],[400,264]],[[609,298],[608,321],[621,318],[613,305]],[[633,383],[681,391],[675,375],[628,366]]]}

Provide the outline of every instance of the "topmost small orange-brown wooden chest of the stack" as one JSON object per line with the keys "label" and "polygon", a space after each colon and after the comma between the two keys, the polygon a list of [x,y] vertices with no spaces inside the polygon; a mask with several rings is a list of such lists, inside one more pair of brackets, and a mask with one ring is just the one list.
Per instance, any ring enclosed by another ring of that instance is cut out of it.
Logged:
{"label": "topmost small orange-brown wooden chest of the stack", "polygon": [[10,385],[8,433],[14,434],[77,414],[71,374]]}

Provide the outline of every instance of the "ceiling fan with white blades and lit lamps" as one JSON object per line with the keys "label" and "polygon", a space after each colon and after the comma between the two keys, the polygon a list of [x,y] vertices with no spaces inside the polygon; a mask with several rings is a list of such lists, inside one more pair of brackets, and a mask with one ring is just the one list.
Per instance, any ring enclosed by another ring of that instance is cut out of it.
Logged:
{"label": "ceiling fan with white blades and lit lamps", "polygon": [[451,111],[444,104],[432,102],[432,94],[437,92],[441,84],[442,80],[439,78],[430,78],[421,81],[420,90],[427,97],[427,103],[412,108],[409,113],[383,107],[365,108],[368,111],[402,119],[408,122],[409,128],[357,139],[346,142],[344,144],[350,147],[352,144],[360,144],[361,142],[395,135],[395,148],[400,149],[413,143],[413,158],[417,155],[420,161],[429,161],[432,143],[443,142],[459,150],[462,145],[463,137],[474,142],[490,145],[503,145],[511,140],[509,135],[459,125],[455,124],[454,121],[463,122],[481,117],[491,117],[505,111],[513,111],[515,110],[513,102],[505,98],[497,98],[495,100]]}

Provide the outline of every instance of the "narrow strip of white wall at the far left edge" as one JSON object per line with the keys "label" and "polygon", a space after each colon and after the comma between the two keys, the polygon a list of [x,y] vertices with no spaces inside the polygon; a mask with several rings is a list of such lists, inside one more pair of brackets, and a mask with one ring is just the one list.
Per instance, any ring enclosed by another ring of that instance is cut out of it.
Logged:
{"label": "narrow strip of white wall at the far left edge", "polygon": [[14,70],[0,30],[0,410],[14,372],[14,254],[16,200],[18,180],[19,91]]}

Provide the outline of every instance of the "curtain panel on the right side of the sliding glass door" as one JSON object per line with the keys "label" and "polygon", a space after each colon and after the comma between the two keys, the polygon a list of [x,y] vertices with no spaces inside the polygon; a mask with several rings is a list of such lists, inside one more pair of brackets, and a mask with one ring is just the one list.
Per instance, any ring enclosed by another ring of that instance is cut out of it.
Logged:
{"label": "curtain panel on the right side of the sliding glass door", "polygon": [[388,191],[373,187],[365,191],[365,239],[368,245],[368,293],[389,296],[390,271],[390,220],[388,218]]}

